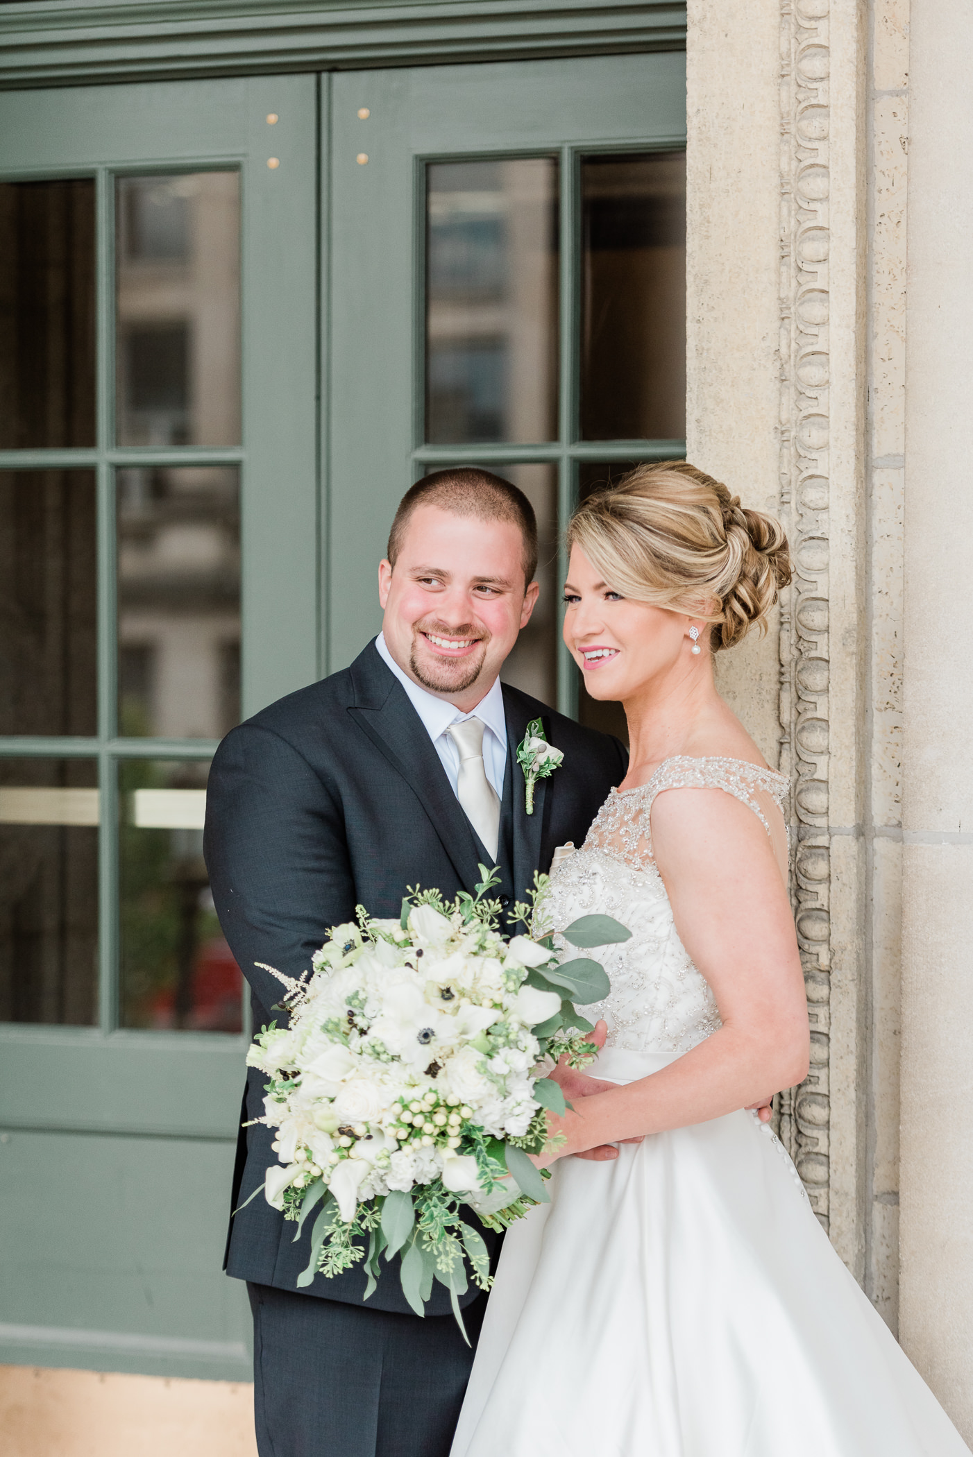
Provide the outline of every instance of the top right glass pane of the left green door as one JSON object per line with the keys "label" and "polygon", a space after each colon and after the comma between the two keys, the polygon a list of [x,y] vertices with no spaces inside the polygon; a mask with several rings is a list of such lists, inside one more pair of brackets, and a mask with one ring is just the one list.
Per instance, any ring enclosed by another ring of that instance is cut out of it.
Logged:
{"label": "top right glass pane of the left green door", "polygon": [[237,172],[117,179],[122,446],[239,444],[239,192]]}

